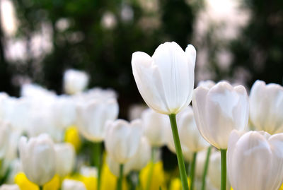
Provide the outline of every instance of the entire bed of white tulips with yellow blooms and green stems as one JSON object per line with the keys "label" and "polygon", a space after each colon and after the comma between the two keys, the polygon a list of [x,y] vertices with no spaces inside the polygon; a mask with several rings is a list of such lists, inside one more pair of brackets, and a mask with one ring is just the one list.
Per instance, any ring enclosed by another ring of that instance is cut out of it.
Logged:
{"label": "entire bed of white tulips with yellow blooms and green stems", "polygon": [[[0,189],[278,190],[282,86],[256,81],[249,97],[226,81],[194,90],[195,60],[195,47],[175,42],[152,57],[134,52],[149,108],[132,121],[117,119],[115,91],[86,90],[82,71],[64,73],[66,95],[34,84],[18,98],[1,93]],[[80,153],[81,141],[91,151]],[[179,174],[163,170],[163,146],[177,155]]]}

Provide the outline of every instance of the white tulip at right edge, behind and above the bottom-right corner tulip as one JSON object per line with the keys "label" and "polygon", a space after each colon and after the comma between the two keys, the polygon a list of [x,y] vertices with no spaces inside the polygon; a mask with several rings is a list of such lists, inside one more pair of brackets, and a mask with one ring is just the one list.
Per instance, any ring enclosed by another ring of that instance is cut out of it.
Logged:
{"label": "white tulip at right edge, behind and above the bottom-right corner tulip", "polygon": [[283,87],[255,81],[250,90],[250,120],[255,129],[268,133],[283,132]]}

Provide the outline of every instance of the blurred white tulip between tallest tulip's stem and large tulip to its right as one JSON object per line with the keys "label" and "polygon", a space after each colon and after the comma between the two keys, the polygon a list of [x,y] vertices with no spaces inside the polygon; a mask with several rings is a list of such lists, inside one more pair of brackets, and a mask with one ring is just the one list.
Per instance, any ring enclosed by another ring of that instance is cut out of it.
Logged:
{"label": "blurred white tulip between tallest tulip's stem and large tulip to its right", "polygon": [[185,144],[194,153],[204,150],[209,146],[209,143],[204,140],[200,131],[197,129],[191,106],[186,107],[177,115],[177,122],[182,145]]}

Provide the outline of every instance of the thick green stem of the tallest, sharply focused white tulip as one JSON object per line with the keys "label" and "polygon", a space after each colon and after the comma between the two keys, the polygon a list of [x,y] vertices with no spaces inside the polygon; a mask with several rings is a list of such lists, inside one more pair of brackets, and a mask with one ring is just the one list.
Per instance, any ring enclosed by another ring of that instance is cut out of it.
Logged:
{"label": "thick green stem of the tallest, sharply focused white tulip", "polygon": [[180,145],[180,139],[178,134],[178,128],[177,128],[177,122],[176,122],[176,115],[170,114],[169,115],[170,123],[171,123],[171,129],[173,133],[174,138],[174,144],[175,144],[175,150],[177,154],[177,160],[178,160],[178,166],[179,166],[179,172],[180,172],[180,179],[182,182],[183,190],[188,190],[189,186],[187,184],[187,174],[185,170],[185,162],[183,158],[183,153]]}

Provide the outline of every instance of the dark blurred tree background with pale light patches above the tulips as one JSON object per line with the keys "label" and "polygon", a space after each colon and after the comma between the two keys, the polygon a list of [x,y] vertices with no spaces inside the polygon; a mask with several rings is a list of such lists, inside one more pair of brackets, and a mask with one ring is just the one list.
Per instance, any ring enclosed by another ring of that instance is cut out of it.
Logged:
{"label": "dark blurred tree background with pale light patches above the tulips", "polygon": [[67,69],[89,88],[113,88],[120,117],[143,102],[132,76],[136,51],[175,41],[197,49],[195,83],[282,84],[282,0],[0,0],[0,91],[24,83],[63,93]]}

